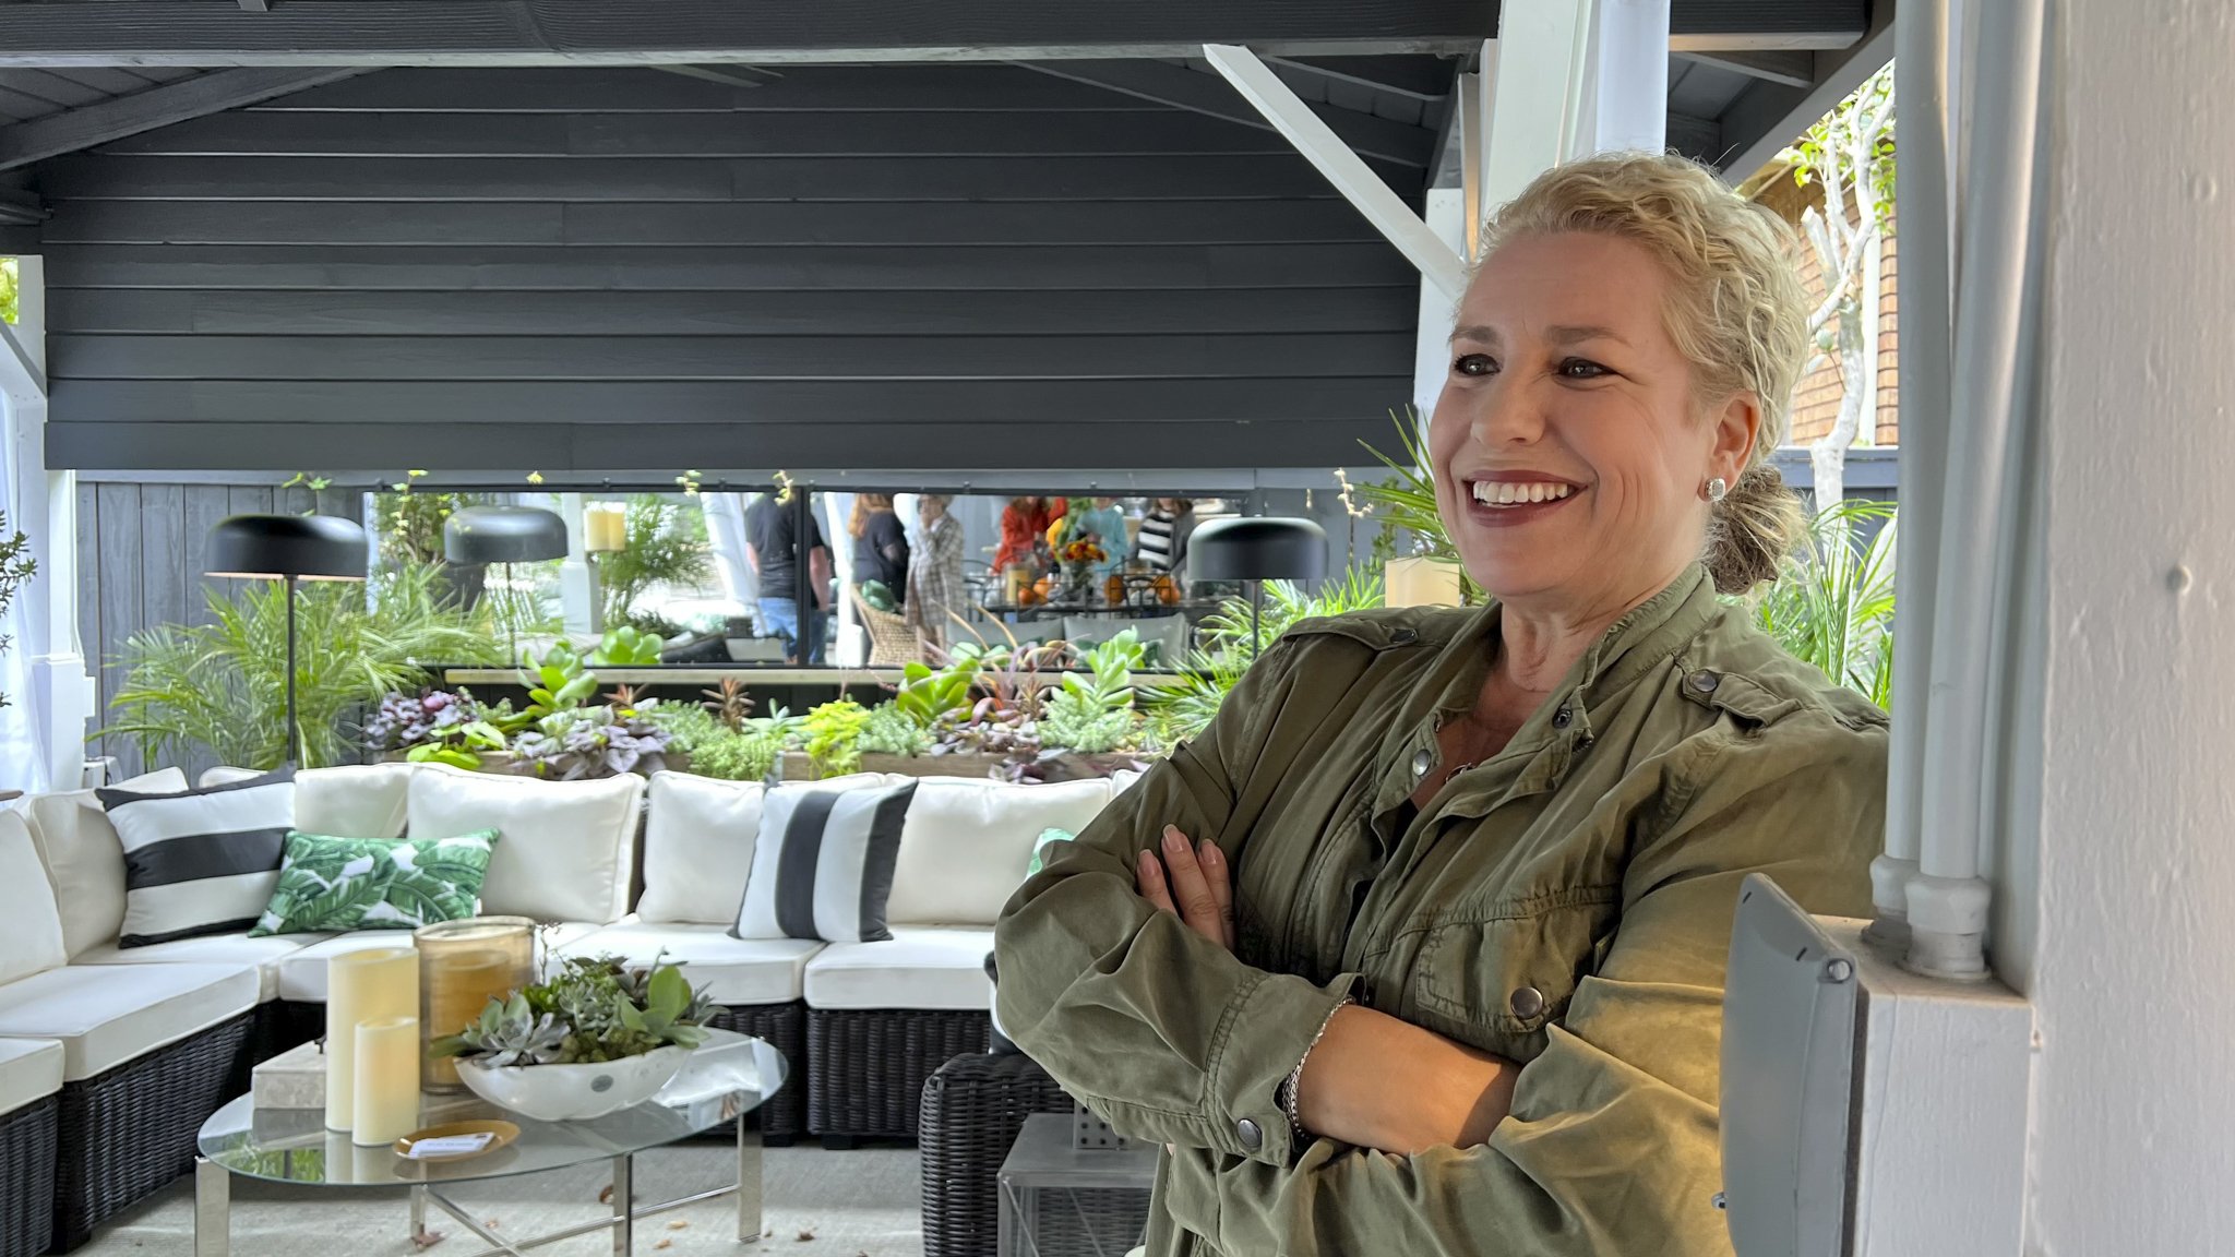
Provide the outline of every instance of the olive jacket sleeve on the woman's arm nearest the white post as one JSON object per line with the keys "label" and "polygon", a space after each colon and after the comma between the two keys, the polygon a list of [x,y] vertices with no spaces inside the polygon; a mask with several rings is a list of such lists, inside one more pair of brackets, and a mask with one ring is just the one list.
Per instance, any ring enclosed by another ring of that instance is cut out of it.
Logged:
{"label": "olive jacket sleeve on the woman's arm nearest the white post", "polygon": [[1180,1150],[1173,1219],[1225,1253],[1292,1257],[1728,1253],[1710,1201],[1739,883],[1766,872],[1813,910],[1866,910],[1886,743],[1808,718],[1719,747],[1672,781],[1665,825],[1625,870],[1605,962],[1547,1027],[1486,1145],[1397,1156],[1316,1141],[1294,1168]]}

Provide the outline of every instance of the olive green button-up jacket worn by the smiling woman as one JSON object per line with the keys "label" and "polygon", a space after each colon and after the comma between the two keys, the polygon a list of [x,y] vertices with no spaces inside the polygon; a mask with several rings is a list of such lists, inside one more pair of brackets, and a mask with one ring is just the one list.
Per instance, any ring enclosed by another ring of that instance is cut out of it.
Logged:
{"label": "olive green button-up jacket worn by the smiling woman", "polygon": [[[1495,606],[1296,626],[1004,910],[1004,1029],[1176,1145],[1151,1257],[1730,1250],[1710,1201],[1739,881],[1866,915],[1886,718],[1694,566],[1413,816],[1495,631]],[[1164,823],[1227,852],[1234,953],[1135,895]],[[1341,995],[1524,1062],[1491,1141],[1292,1143],[1276,1089]]]}

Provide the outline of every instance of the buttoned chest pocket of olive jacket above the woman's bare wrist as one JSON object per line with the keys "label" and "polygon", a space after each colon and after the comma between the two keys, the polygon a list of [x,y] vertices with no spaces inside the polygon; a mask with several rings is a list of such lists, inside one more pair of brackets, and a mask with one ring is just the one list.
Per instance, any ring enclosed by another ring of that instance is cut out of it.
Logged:
{"label": "buttoned chest pocket of olive jacket above the woman's bare wrist", "polygon": [[1576,982],[1614,937],[1616,886],[1594,886],[1444,917],[1421,935],[1408,1018],[1506,1060],[1535,1060]]}

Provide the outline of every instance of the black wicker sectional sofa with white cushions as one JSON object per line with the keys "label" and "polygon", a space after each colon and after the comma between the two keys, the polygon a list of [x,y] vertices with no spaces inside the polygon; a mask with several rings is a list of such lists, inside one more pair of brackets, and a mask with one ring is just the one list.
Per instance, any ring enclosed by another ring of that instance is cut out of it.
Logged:
{"label": "black wicker sectional sofa with white cushions", "polygon": [[[248,776],[212,769],[203,785]],[[878,774],[822,783],[883,785]],[[165,769],[123,783],[181,792]],[[295,828],[396,839],[496,828],[481,910],[548,922],[559,953],[666,957],[720,1024],[791,1060],[773,1141],[914,1138],[923,1083],[988,1042],[992,922],[1048,828],[1077,832],[1122,781],[919,778],[890,942],[738,939],[760,785],[684,774],[545,783],[440,765],[295,774]],[[118,946],[121,839],[92,792],[0,812],[0,1257],[69,1250],[192,1165],[194,1132],[255,1060],[324,1029],[326,960],[400,930]]]}

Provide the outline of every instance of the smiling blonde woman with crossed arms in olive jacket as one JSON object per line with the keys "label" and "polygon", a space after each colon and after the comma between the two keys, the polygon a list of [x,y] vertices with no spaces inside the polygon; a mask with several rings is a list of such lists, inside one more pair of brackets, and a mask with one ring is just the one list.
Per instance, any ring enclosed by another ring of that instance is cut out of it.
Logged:
{"label": "smiling blonde woman with crossed arms in olive jacket", "polygon": [[1158,1257],[1728,1253],[1739,883],[1871,901],[1884,713],[1716,597],[1797,523],[1781,224],[1611,154],[1486,239],[1428,445],[1491,604],[1294,626],[997,928],[1010,1038],[1169,1147]]}

